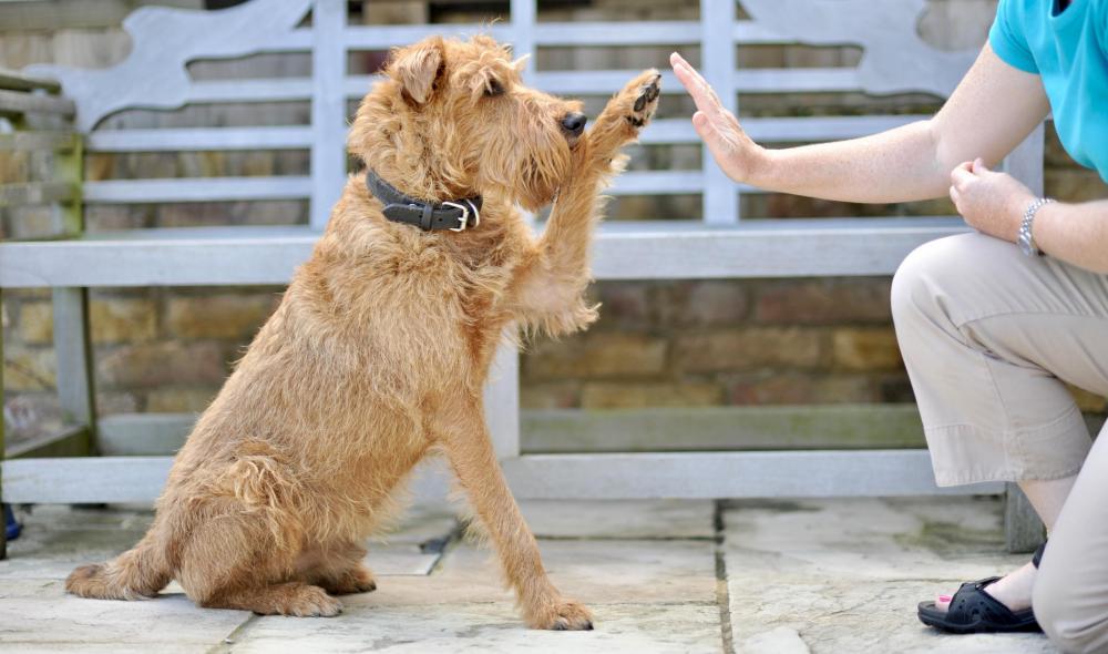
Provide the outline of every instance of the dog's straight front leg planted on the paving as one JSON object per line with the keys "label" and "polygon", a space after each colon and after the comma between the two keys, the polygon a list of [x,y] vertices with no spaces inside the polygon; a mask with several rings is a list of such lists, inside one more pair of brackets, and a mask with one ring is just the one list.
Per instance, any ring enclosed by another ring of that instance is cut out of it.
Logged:
{"label": "dog's straight front leg planted on the paving", "polygon": [[495,544],[527,625],[560,631],[593,629],[588,609],[563,597],[546,576],[535,537],[496,461],[480,400],[451,413],[453,423],[444,435],[447,456]]}

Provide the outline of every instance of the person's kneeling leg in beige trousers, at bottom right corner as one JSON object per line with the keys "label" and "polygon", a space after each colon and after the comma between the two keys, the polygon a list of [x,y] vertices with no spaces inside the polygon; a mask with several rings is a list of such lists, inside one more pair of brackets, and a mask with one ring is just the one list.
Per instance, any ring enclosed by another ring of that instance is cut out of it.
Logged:
{"label": "person's kneeling leg in beige trousers, at bottom right corner", "polygon": [[1108,426],[1050,535],[1034,606],[1063,652],[1108,652]]}

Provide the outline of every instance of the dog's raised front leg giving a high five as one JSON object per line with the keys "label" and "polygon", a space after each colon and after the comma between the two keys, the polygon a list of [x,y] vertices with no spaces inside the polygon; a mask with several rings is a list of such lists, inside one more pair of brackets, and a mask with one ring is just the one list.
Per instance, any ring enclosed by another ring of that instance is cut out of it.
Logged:
{"label": "dog's raised front leg giving a high five", "polygon": [[660,79],[658,71],[649,70],[632,80],[574,149],[573,173],[519,279],[514,317],[521,325],[558,335],[596,319],[584,292],[592,277],[588,252],[602,214],[601,192],[622,167],[619,149],[637,139],[654,115]]}

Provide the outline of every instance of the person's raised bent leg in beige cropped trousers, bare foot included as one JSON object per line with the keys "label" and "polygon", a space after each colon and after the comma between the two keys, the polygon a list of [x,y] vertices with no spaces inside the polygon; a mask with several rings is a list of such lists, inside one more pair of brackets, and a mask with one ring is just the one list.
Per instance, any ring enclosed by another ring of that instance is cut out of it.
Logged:
{"label": "person's raised bent leg in beige cropped trousers, bare foot included", "polygon": [[[1018,481],[1053,524],[1090,444],[1063,380],[1108,392],[1108,276],[967,234],[912,253],[892,302],[936,481]],[[988,591],[1026,609],[1033,578]]]}

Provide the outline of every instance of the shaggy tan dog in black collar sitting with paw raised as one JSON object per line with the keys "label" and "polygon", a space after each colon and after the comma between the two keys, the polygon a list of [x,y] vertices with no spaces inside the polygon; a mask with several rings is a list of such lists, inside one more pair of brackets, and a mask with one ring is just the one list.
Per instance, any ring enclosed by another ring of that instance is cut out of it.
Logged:
{"label": "shaggy tan dog in black collar sitting with paw raised", "polygon": [[[546,578],[482,387],[509,325],[565,334],[596,318],[583,292],[598,194],[654,114],[659,75],[633,80],[585,134],[581,104],[523,86],[521,69],[486,37],[393,52],[349,137],[377,192],[350,177],[177,454],[150,532],[74,570],[70,592],[130,600],[177,579],[202,606],[335,615],[331,595],[376,587],[362,542],[412,467],[441,450],[527,624],[592,629]],[[555,196],[536,239],[516,205]]]}

